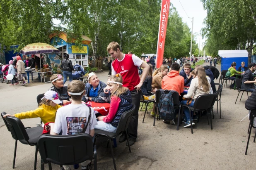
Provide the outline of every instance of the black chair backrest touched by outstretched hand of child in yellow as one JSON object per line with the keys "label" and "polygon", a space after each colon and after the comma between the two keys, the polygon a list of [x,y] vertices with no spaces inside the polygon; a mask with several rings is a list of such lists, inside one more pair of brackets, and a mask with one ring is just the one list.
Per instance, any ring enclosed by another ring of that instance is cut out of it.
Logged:
{"label": "black chair backrest touched by outstretched hand of child in yellow", "polygon": [[[25,130],[25,127],[19,118],[7,116],[4,118],[4,115],[6,115],[5,112],[1,113],[2,119],[5,122],[5,125],[7,127],[7,130],[9,130],[12,134],[12,138],[15,140],[25,140],[29,141],[29,135],[27,134],[27,131]],[[29,142],[28,142],[29,143]]]}

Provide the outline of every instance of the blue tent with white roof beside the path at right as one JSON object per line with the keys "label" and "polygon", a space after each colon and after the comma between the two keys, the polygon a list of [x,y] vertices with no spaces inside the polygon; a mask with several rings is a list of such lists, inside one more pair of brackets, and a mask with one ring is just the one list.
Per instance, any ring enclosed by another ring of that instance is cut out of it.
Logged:
{"label": "blue tent with white roof beside the path at right", "polygon": [[221,68],[222,70],[228,70],[232,62],[237,63],[237,68],[241,62],[245,62],[245,66],[248,65],[248,52],[246,50],[219,50],[218,55],[221,57]]}

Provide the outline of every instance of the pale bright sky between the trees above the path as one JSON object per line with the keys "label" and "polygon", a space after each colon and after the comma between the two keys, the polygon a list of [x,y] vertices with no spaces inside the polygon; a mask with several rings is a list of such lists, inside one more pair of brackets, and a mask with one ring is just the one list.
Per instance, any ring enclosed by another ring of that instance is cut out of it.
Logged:
{"label": "pale bright sky between the trees above the path", "polygon": [[[171,3],[178,11],[182,21],[187,23],[189,28],[192,28],[192,19],[188,17],[194,17],[193,33],[198,33],[195,40],[199,43],[200,38],[200,49],[202,49],[202,43],[205,42],[205,39],[202,41],[202,36],[199,34],[201,28],[204,27],[203,20],[207,16],[207,12],[203,9],[203,3],[200,0],[171,0]],[[184,12],[184,10],[186,12]]]}

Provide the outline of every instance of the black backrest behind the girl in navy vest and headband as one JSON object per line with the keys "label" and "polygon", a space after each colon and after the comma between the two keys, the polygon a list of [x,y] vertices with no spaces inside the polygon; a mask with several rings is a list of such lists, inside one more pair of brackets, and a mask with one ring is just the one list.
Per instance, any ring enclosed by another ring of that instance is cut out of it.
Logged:
{"label": "black backrest behind the girl in navy vest and headband", "polygon": [[116,128],[116,134],[119,135],[121,132],[127,130],[128,125],[129,125],[129,123],[130,123],[130,119],[131,119],[132,116],[133,116],[134,109],[135,109],[135,105],[133,104],[132,109],[130,109],[130,110],[128,110],[128,111],[125,111],[125,112],[121,115],[120,120],[119,120],[119,123],[118,123],[118,126],[117,126],[117,128]]}

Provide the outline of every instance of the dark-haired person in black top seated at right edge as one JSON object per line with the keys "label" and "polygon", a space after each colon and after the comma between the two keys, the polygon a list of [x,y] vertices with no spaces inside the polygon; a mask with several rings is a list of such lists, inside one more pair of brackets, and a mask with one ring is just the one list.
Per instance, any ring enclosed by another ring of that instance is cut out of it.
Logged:
{"label": "dark-haired person in black top seated at right edge", "polygon": [[248,65],[248,70],[244,73],[244,78],[242,81],[242,89],[248,90],[250,92],[254,91],[256,80],[252,73],[256,70],[256,64],[250,63]]}

